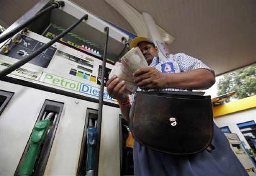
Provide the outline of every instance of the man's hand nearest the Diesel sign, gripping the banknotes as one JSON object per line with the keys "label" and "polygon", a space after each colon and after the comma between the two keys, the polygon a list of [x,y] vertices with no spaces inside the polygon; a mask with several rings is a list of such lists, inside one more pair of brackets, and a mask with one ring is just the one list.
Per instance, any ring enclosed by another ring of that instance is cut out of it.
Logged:
{"label": "man's hand nearest the Diesel sign, gripping the banknotes", "polygon": [[125,102],[127,98],[129,98],[127,91],[125,90],[125,81],[116,76],[110,78],[108,82],[106,82],[106,91],[112,98],[122,102]]}

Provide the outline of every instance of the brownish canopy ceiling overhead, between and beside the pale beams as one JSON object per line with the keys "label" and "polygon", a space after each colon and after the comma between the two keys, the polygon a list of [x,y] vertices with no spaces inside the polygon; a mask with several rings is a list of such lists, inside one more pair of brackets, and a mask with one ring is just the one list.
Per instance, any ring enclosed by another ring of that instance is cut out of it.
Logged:
{"label": "brownish canopy ceiling overhead, between and beside the pale beams", "polygon": [[[27,3],[25,3],[27,1]],[[10,26],[39,0],[0,0],[0,24]],[[73,0],[127,31],[131,25],[104,0]],[[125,0],[175,37],[172,53],[201,59],[218,75],[256,62],[256,1]]]}

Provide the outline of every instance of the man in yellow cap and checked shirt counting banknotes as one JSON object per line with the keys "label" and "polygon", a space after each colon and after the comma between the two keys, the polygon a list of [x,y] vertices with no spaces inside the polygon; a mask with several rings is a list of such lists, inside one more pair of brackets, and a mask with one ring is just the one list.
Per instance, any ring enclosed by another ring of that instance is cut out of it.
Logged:
{"label": "man in yellow cap and checked shirt counting banknotes", "polygon": [[[139,47],[149,67],[134,72],[134,82],[142,90],[185,91],[208,89],[215,83],[215,73],[200,60],[185,54],[170,54],[160,61],[158,48],[146,37],[136,37],[131,48]],[[130,98],[125,81],[117,77],[106,83],[109,95],[117,99],[123,117],[129,122]],[[132,98],[131,98],[132,101]],[[177,156],[148,149],[134,143],[135,175],[247,175],[229,147],[222,131],[214,126],[214,150],[196,155]]]}

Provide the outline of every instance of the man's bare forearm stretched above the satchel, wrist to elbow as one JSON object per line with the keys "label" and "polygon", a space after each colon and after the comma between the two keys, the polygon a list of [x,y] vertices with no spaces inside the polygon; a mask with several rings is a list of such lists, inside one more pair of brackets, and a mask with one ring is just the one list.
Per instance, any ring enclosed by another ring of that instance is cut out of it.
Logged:
{"label": "man's bare forearm stretched above the satchel, wrist to elbow", "polygon": [[208,89],[215,83],[215,77],[207,69],[165,74],[165,85],[180,89]]}

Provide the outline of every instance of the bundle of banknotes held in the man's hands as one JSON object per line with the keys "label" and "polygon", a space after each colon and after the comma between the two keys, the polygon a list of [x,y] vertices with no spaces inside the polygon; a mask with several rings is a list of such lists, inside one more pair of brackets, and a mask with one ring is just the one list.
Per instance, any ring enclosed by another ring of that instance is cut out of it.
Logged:
{"label": "bundle of banknotes held in the man's hands", "polygon": [[125,89],[127,93],[132,94],[138,88],[133,81],[133,73],[142,67],[148,66],[146,59],[140,49],[135,47],[127,52],[120,60],[121,62],[116,62],[109,78],[116,75],[118,78],[125,80]]}

